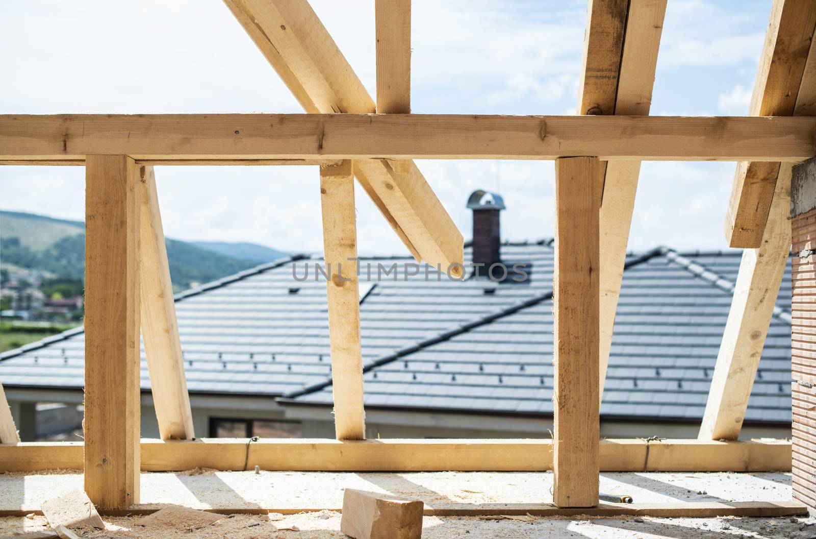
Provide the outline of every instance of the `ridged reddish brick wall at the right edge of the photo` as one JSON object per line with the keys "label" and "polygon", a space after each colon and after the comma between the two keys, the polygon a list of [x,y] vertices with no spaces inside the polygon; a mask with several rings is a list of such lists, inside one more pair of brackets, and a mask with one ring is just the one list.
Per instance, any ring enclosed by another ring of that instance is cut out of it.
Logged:
{"label": "ridged reddish brick wall at the right edge of the photo", "polygon": [[791,221],[793,496],[816,508],[816,210]]}

